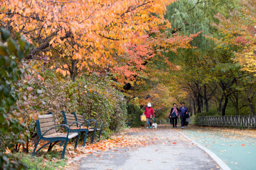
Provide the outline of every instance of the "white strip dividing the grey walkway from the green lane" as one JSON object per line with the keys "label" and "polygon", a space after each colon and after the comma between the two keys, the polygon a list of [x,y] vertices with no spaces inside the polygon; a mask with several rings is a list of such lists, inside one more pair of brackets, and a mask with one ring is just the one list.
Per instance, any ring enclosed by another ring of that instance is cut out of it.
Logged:
{"label": "white strip dividing the grey walkway from the green lane", "polygon": [[178,132],[178,133],[180,133],[180,135],[184,136],[185,138],[190,140],[192,143],[194,143],[197,147],[199,147],[200,149],[204,150],[204,152],[206,152],[208,155],[210,155],[212,157],[212,159],[220,166],[220,168],[222,168],[222,170],[231,170],[228,167],[228,165],[225,164],[215,153],[213,153],[212,151],[210,151],[206,147],[203,147],[202,145],[200,145],[199,143],[197,143],[196,141],[194,141],[190,137],[187,137],[183,133],[181,133],[181,132]]}

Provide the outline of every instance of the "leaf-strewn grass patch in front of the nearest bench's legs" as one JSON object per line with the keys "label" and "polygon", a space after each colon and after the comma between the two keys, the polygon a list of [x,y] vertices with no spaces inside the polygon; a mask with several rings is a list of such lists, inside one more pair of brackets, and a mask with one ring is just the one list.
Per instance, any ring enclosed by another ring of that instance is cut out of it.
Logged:
{"label": "leaf-strewn grass patch in front of the nearest bench's legs", "polygon": [[[64,169],[67,158],[60,159],[59,152],[47,152],[32,157],[31,154],[19,152],[14,156],[21,159],[28,167],[28,170],[56,170]],[[37,157],[38,156],[38,157]]]}

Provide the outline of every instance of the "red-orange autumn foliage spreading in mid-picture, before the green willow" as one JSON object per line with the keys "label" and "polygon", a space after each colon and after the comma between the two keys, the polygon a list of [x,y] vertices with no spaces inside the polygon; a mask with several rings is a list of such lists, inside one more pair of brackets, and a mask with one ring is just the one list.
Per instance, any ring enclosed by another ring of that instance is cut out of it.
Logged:
{"label": "red-orange autumn foliage spreading in mid-picture, before the green willow", "polygon": [[[178,33],[169,35],[166,25],[158,26],[156,29],[150,29],[148,35],[140,36],[139,33],[134,35],[134,39],[138,42],[126,43],[126,50],[118,63],[110,68],[113,76],[118,82],[133,84],[136,77],[146,78],[146,64],[155,58],[168,64],[172,70],[176,70],[177,66],[168,61],[168,57],[164,53],[172,51],[177,52],[179,48],[196,48],[190,45],[194,37],[198,36],[202,31],[191,34],[189,37]],[[154,37],[149,36],[154,35]]]}

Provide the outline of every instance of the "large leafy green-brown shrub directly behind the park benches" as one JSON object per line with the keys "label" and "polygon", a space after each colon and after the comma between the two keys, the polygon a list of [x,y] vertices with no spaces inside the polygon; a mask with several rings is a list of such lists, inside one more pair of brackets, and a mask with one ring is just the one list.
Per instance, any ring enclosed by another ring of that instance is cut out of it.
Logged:
{"label": "large leafy green-brown shrub directly behind the park benches", "polygon": [[57,124],[62,124],[66,113],[75,112],[84,115],[85,119],[96,119],[103,122],[102,138],[110,137],[112,131],[124,125],[126,119],[126,99],[124,94],[111,86],[106,75],[90,74],[75,82],[52,70],[45,70],[44,83],[47,95],[44,114],[52,111]]}

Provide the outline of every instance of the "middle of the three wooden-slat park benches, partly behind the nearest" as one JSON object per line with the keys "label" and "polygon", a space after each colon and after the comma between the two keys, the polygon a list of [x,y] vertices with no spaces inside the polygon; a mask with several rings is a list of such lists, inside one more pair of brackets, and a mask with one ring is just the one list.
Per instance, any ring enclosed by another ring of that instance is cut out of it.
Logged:
{"label": "middle of the three wooden-slat park benches, partly behind the nearest", "polygon": [[[74,113],[71,113],[71,114],[68,114],[68,113],[65,113],[64,111],[61,111],[62,115],[63,115],[63,118],[64,118],[64,124],[67,124],[67,123],[70,123],[70,122],[74,122],[76,121],[76,116]],[[84,142],[83,142],[83,147],[85,146],[85,143],[86,143],[86,137],[87,137],[87,134],[90,133],[90,132],[93,132],[92,134],[92,139],[91,139],[91,143],[93,143],[94,141],[94,135],[95,135],[95,131],[96,129],[95,128],[89,128],[89,125],[91,121],[94,121],[94,120],[86,120],[86,119],[82,119],[82,120],[79,120],[79,121],[76,121],[76,122],[79,122],[80,125],[81,125],[81,129],[80,129],[80,133],[85,133],[84,135]],[[86,126],[86,123],[87,123],[87,126]],[[94,121],[94,123],[96,123],[96,121]],[[72,127],[70,127],[70,132],[76,132],[78,129],[78,124],[77,125],[72,125]],[[62,142],[63,143],[63,142]],[[61,143],[61,145],[62,145]]]}

